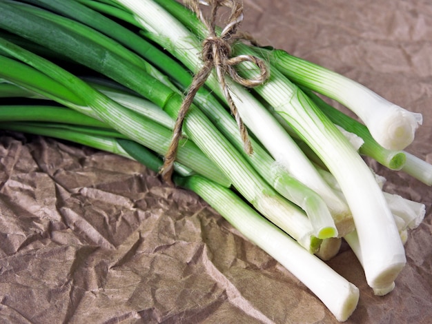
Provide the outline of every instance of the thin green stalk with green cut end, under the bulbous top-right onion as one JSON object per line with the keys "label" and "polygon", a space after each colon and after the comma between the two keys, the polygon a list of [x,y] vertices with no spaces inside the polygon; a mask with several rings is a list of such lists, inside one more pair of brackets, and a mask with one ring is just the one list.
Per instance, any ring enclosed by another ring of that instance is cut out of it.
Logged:
{"label": "thin green stalk with green cut end, under the bulbous top-right onion", "polygon": [[317,104],[317,106],[331,121],[333,121],[333,123],[340,125],[348,132],[357,134],[363,139],[364,143],[360,147],[360,154],[370,156],[372,159],[375,159],[375,161],[391,170],[402,169],[406,161],[404,152],[401,150],[387,150],[386,148],[383,148],[382,145],[378,144],[377,141],[373,139],[371,132],[369,132],[369,129],[365,125],[329,105],[311,90],[306,88],[302,88],[302,90],[308,94],[308,97]]}

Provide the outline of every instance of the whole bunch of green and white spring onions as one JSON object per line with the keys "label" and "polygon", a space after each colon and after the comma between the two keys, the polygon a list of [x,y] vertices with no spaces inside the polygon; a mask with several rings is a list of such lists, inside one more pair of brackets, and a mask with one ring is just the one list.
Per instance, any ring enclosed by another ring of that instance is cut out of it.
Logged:
{"label": "whole bunch of green and white spring onions", "polygon": [[[206,32],[174,0],[1,1],[0,128],[81,143],[159,172]],[[235,43],[233,55],[242,54],[264,59],[271,75],[253,89],[228,80],[253,154],[211,74],[184,121],[173,181],[345,321],[359,291],[322,260],[343,238],[375,294],[393,290],[407,230],[425,208],[383,192],[362,156],[432,185],[432,166],[404,151],[422,117],[284,50]],[[238,70],[246,78],[256,72],[248,63]]]}

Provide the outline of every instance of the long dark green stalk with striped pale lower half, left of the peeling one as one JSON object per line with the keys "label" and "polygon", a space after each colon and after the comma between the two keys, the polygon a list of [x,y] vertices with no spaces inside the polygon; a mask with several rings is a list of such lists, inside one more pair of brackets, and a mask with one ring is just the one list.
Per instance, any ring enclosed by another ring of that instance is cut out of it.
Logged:
{"label": "long dark green stalk with striped pale lower half, left of the peeling one", "polygon": [[[101,45],[100,41],[92,41],[90,34],[99,35],[99,33],[86,28],[86,34],[79,34],[79,31],[84,30],[84,28],[77,28],[78,32],[75,32],[73,28],[63,28],[61,24],[57,23],[57,19],[56,22],[54,19],[41,19],[28,14],[28,10],[23,11],[18,6],[8,6],[6,3],[0,3],[0,8],[3,9],[0,13],[0,26],[9,32],[20,34],[35,41],[35,43],[46,45],[47,48],[55,52],[67,55],[89,68],[106,74],[106,76],[153,101],[168,112],[171,117],[177,117],[182,101],[181,96],[177,92],[170,90],[158,79],[147,74],[146,71],[139,70],[137,72],[137,65],[130,63],[125,57],[117,55],[116,52],[110,52],[110,48],[114,45],[106,48]],[[26,14],[23,14],[24,12]],[[48,32],[50,37],[48,37]],[[109,41],[104,39],[104,42],[108,43]],[[79,47],[76,45],[78,43]],[[104,64],[101,64],[101,61]],[[122,108],[121,116],[116,115],[114,112],[108,114],[106,102],[110,100],[102,94],[99,95],[99,98],[99,105],[92,108],[112,128],[122,133],[126,131],[123,128],[118,129],[118,125],[115,125],[115,119],[125,118],[124,115],[130,116],[132,112],[119,106]],[[104,109],[101,109],[101,106]],[[225,176],[232,181],[235,188],[242,193],[246,200],[253,203],[257,210],[262,212],[273,223],[286,230],[306,249],[311,251],[317,249],[320,240],[312,235],[313,228],[306,214],[286,199],[282,199],[282,196],[279,196],[273,188],[268,186],[256,174],[251,165],[246,163],[242,154],[233,148],[233,145],[220,134],[199,109],[191,108],[189,110],[188,118],[184,123],[184,130],[188,138],[197,144],[202,152],[217,165],[215,170],[222,170]]]}

